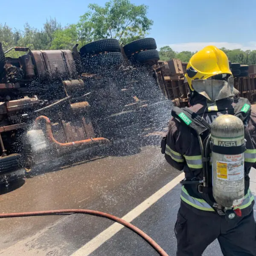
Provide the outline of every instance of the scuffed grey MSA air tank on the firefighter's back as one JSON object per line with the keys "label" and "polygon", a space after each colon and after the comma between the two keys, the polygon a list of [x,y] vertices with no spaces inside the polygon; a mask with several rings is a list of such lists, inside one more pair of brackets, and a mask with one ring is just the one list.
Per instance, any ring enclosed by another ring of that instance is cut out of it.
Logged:
{"label": "scuffed grey MSA air tank on the firefighter's back", "polygon": [[244,124],[236,116],[218,116],[211,127],[212,191],[218,204],[236,207],[244,198]]}

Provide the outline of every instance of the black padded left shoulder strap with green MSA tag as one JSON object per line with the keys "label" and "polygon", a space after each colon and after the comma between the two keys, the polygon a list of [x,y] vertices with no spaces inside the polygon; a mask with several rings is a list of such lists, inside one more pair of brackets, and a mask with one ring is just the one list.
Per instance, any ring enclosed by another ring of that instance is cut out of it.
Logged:
{"label": "black padded left shoulder strap with green MSA tag", "polygon": [[210,131],[211,126],[197,113],[189,108],[172,108],[172,116],[180,119],[184,124],[189,126],[196,134],[201,135],[205,131]]}

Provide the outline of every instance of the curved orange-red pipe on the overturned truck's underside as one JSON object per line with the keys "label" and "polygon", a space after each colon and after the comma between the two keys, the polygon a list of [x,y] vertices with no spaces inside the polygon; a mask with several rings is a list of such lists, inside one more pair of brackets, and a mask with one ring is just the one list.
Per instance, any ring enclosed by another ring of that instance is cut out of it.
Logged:
{"label": "curved orange-red pipe on the overturned truck's underside", "polygon": [[93,139],[87,139],[87,140],[77,140],[77,141],[67,142],[67,143],[60,143],[57,140],[55,140],[55,138],[53,137],[50,119],[47,116],[38,116],[35,119],[35,125],[38,125],[38,120],[40,120],[40,119],[44,119],[46,122],[46,132],[47,132],[47,136],[48,136],[49,140],[61,147],[68,147],[68,146],[81,145],[81,144],[100,143],[100,142],[103,142],[103,143],[109,142],[108,139],[101,137],[101,138],[93,138]]}

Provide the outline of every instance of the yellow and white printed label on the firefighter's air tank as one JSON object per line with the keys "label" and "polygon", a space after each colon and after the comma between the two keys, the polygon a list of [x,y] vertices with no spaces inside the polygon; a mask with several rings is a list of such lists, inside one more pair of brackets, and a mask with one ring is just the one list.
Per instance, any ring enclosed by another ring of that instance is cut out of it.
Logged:
{"label": "yellow and white printed label on the firefighter's air tank", "polygon": [[244,162],[242,160],[224,162],[217,161],[217,178],[220,180],[241,180],[244,177]]}

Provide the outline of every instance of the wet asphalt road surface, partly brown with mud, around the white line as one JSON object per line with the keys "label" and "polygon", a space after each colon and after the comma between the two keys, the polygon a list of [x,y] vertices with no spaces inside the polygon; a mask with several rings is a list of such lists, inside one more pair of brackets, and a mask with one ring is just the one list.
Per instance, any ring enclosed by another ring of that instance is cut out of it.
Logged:
{"label": "wet asphalt road surface, partly brown with mud, around the white line", "polygon": [[[122,217],[180,173],[166,163],[159,147],[145,146],[126,156],[96,157],[15,184],[13,190],[0,196],[0,212],[79,208]],[[251,181],[256,194],[255,170]],[[174,224],[179,204],[177,184],[131,221],[169,256],[175,256]],[[0,219],[0,255],[83,255],[80,248],[112,224],[108,219],[89,215]],[[158,254],[140,236],[122,228],[90,255]],[[212,243],[204,255],[221,256],[218,243]]]}

